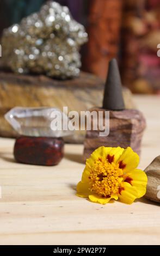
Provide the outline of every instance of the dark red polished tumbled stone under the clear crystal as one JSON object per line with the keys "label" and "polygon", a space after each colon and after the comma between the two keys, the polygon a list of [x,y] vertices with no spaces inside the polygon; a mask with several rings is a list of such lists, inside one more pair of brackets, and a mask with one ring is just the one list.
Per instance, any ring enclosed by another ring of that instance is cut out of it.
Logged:
{"label": "dark red polished tumbled stone under the clear crystal", "polygon": [[63,138],[21,136],[14,146],[15,160],[20,163],[54,166],[63,156]]}

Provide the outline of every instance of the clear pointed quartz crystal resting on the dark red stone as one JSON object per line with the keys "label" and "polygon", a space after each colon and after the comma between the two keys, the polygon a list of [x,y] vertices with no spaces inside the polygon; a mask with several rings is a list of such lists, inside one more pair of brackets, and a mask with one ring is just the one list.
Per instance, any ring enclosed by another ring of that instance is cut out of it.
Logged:
{"label": "clear pointed quartz crystal resting on the dark red stone", "polygon": [[[67,115],[58,108],[15,107],[4,117],[15,131],[24,136],[58,138],[73,133],[68,129],[69,119]],[[64,123],[65,128],[63,129]]]}

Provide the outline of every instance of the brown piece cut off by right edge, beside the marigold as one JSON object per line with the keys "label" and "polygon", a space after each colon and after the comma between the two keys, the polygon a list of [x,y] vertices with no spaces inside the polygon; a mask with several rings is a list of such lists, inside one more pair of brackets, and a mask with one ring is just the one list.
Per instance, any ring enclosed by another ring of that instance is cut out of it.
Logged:
{"label": "brown piece cut off by right edge, beside the marigold", "polygon": [[160,156],[145,169],[148,178],[145,197],[153,202],[160,203]]}

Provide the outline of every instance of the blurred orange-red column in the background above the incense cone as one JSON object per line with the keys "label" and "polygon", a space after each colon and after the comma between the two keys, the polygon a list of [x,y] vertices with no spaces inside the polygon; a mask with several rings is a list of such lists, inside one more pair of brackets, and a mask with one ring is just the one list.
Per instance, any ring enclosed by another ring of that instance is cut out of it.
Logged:
{"label": "blurred orange-red column in the background above the incense cone", "polygon": [[121,16],[121,0],[89,1],[89,42],[83,59],[85,71],[106,78],[108,62],[119,50]]}

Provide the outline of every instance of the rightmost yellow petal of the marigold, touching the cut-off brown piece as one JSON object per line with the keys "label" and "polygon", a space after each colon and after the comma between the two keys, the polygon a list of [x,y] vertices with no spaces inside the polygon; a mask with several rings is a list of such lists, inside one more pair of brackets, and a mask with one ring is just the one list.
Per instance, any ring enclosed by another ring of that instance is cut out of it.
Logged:
{"label": "rightmost yellow petal of the marigold, touching the cut-off brown piece", "polygon": [[131,185],[136,188],[138,192],[138,198],[143,197],[146,193],[147,175],[143,170],[132,170],[129,178],[132,179]]}

